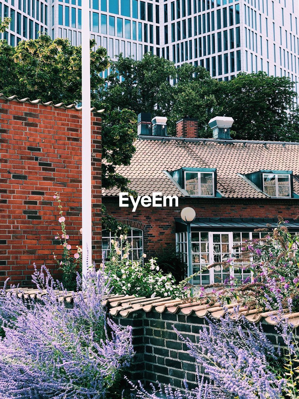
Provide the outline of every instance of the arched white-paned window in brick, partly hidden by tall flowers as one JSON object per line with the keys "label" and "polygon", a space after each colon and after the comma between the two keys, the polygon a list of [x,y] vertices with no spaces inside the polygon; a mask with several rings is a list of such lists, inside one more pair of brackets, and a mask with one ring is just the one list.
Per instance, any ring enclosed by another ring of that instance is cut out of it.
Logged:
{"label": "arched white-paned window in brick, partly hidden by tall flowers", "polygon": [[[103,251],[103,259],[109,258],[109,252],[111,249],[111,239],[114,239],[113,233],[109,230],[103,230],[102,232],[102,251]],[[125,241],[128,241],[131,245],[132,252],[130,253],[130,259],[137,261],[142,259],[143,254],[143,231],[140,229],[136,229],[134,227],[130,227],[127,239],[120,240],[118,239],[119,244],[123,247],[125,245]]]}

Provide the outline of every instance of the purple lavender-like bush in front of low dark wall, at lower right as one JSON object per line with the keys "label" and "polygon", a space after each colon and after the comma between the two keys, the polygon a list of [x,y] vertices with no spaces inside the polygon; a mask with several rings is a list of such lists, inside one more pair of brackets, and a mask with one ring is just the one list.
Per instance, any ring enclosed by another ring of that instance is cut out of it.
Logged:
{"label": "purple lavender-like bush in front of low dark wall, at lower right", "polygon": [[[235,311],[237,314],[238,308]],[[282,398],[284,380],[271,371],[276,350],[261,326],[247,322],[244,317],[231,320],[228,313],[220,320],[207,318],[207,324],[199,332],[197,344],[174,330],[212,384],[204,383],[199,374],[199,387],[189,391],[186,384],[185,393],[161,385],[158,391],[153,389],[152,393],[147,393],[140,384],[139,387],[134,386],[136,398],[157,399],[163,394],[166,399]]]}

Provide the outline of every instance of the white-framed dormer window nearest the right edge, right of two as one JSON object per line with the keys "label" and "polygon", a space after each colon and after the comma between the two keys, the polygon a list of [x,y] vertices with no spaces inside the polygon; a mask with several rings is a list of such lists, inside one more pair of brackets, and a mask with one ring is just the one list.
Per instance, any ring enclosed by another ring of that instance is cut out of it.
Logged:
{"label": "white-framed dormer window nearest the right edge, right of two", "polygon": [[289,174],[263,173],[264,192],[270,197],[291,197],[291,176]]}

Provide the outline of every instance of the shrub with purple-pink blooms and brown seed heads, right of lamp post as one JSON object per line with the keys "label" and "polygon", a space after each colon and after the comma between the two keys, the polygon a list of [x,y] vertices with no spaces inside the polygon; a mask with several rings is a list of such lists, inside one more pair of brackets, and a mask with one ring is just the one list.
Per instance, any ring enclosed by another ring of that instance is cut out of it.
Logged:
{"label": "shrub with purple-pink blooms and brown seed heads, right of lamp post", "polygon": [[[284,307],[287,307],[288,298],[292,298],[294,310],[299,310],[299,235],[291,234],[287,229],[287,223],[280,218],[273,232],[268,232],[262,239],[244,243],[241,248],[242,261],[244,269],[250,269],[252,272],[252,279],[238,279],[238,271],[235,269],[235,276],[227,277],[223,283],[201,287],[200,296],[207,296],[211,303],[238,301],[248,309],[266,309],[268,298],[272,298],[272,307],[277,309],[277,298],[273,291],[274,281],[283,298]],[[220,264],[214,263],[208,266],[208,269],[216,265],[228,268],[234,266],[234,259]],[[196,274],[191,277],[194,276]],[[189,279],[190,277],[183,280],[180,286],[188,285]]]}

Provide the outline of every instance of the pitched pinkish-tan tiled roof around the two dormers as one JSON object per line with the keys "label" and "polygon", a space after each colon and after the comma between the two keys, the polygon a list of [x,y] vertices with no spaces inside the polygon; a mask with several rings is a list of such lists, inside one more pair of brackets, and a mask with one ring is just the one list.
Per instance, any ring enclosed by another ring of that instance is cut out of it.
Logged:
{"label": "pitched pinkish-tan tiled roof around the two dormers", "polygon": [[[130,166],[116,170],[128,178],[130,189],[140,195],[162,192],[186,196],[163,171],[179,168],[217,168],[217,189],[227,198],[268,198],[242,176],[258,170],[292,170],[299,175],[299,143],[242,140],[141,137]],[[119,190],[103,190],[116,196]],[[299,193],[299,180],[294,179]]]}

